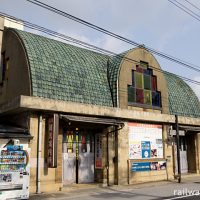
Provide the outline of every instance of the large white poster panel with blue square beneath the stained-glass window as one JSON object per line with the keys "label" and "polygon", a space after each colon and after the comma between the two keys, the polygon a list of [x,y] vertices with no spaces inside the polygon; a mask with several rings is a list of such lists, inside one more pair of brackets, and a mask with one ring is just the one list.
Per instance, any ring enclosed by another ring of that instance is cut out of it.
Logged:
{"label": "large white poster panel with blue square beneath the stained-glass window", "polygon": [[163,158],[162,126],[128,123],[129,159]]}

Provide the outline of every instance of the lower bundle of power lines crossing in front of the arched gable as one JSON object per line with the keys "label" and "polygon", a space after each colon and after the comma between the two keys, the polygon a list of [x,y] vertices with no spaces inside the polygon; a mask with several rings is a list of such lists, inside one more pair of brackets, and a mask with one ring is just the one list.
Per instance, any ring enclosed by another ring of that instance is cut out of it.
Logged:
{"label": "lower bundle of power lines crossing in front of the arched gable", "polygon": [[[128,58],[126,56],[121,56],[121,55],[116,54],[116,53],[114,53],[112,51],[105,50],[103,48],[99,48],[99,47],[97,47],[95,45],[91,45],[91,44],[86,43],[86,42],[82,42],[82,41],[77,40],[75,38],[66,36],[64,34],[61,34],[61,33],[55,32],[55,31],[52,31],[52,30],[44,28],[42,26],[38,26],[36,24],[32,24],[32,23],[30,23],[28,21],[15,18],[15,17],[7,15],[5,13],[0,12],[0,16],[6,17],[7,20],[11,20],[11,21],[14,20],[16,23],[23,24],[27,28],[30,28],[30,29],[33,29],[33,30],[37,30],[37,31],[41,31],[41,32],[43,32],[45,34],[54,36],[56,38],[62,39],[62,40],[67,41],[67,42],[72,42],[72,43],[78,44],[78,45],[83,46],[85,48],[88,48],[90,50],[93,50],[93,51],[96,51],[96,52],[99,52],[99,53],[104,53],[105,55],[108,55],[108,56],[114,56],[114,57],[119,58],[119,59],[125,59],[126,61],[131,62],[131,63],[140,64],[140,62],[138,62],[136,60],[133,60],[131,58]],[[154,69],[154,71],[157,71],[157,72],[160,72],[160,73],[163,73],[163,74],[168,74],[168,75],[173,74],[173,73],[164,71],[162,69],[157,69],[157,68],[155,68],[153,66],[151,68]],[[196,84],[196,85],[200,85],[200,82],[198,82],[198,81],[195,81],[195,80],[192,80],[192,79],[180,76],[180,75],[176,75],[176,76],[181,78],[181,79],[183,79],[183,80],[185,80],[185,81],[187,81],[187,82],[190,82],[190,83],[193,83],[193,84]]]}

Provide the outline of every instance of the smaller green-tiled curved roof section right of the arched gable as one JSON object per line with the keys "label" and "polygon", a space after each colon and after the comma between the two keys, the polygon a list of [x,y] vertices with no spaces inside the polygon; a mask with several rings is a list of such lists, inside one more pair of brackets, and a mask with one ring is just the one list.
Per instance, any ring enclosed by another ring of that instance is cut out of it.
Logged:
{"label": "smaller green-tiled curved roof section right of the arched gable", "polygon": [[168,84],[170,113],[200,117],[200,102],[190,86],[174,74],[165,74],[165,78]]}

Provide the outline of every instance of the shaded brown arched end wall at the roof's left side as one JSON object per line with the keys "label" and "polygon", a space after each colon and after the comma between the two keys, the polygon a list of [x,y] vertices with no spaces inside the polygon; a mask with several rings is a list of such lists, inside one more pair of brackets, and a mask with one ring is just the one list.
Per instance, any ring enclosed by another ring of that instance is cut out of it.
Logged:
{"label": "shaded brown arched end wall at the roof's left side", "polygon": [[0,85],[0,104],[19,95],[31,95],[28,61],[22,43],[12,31],[4,31],[2,53],[8,62],[6,77]]}

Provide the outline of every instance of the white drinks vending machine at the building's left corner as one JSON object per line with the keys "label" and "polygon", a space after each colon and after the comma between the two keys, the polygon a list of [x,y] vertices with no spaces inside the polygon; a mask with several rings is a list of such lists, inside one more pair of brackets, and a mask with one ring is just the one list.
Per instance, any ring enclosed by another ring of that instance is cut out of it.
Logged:
{"label": "white drinks vending machine at the building's left corner", "polygon": [[28,199],[30,179],[28,144],[0,145],[0,199]]}

